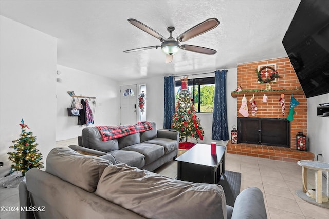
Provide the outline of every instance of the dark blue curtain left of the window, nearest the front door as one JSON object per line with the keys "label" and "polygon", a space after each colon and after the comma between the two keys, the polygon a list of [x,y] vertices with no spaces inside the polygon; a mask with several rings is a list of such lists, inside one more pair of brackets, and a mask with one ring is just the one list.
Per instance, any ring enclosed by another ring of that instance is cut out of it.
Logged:
{"label": "dark blue curtain left of the window, nearest the front door", "polygon": [[165,116],[163,128],[170,129],[175,113],[175,77],[165,77]]}

